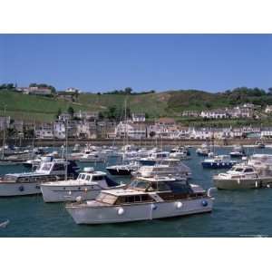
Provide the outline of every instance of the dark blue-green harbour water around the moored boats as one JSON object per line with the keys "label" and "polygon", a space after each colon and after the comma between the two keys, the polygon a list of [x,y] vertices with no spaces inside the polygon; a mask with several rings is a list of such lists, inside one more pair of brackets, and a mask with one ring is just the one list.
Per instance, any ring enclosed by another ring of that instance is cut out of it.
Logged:
{"label": "dark blue-green harbour water around the moored boats", "polygon": [[[218,153],[229,151],[230,148],[218,149]],[[257,152],[272,153],[272,149]],[[191,181],[209,189],[213,186],[212,175],[219,170],[203,170],[203,158],[194,149],[191,154],[192,159],[184,161],[193,172]],[[96,165],[96,169],[103,168],[103,164]],[[20,171],[25,171],[23,166],[0,167],[1,175]],[[208,214],[98,226],[76,225],[63,203],[45,204],[42,196],[0,198],[0,222],[10,220],[7,228],[0,228],[0,237],[272,236],[272,189],[219,190],[213,195],[214,209]]]}

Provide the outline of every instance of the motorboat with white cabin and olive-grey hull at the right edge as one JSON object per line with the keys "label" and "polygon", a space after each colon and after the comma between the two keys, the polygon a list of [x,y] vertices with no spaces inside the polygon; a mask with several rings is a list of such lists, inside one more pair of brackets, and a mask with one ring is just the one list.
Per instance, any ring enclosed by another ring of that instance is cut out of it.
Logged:
{"label": "motorboat with white cabin and olive-grey hull at the right edge", "polygon": [[213,177],[218,189],[256,189],[272,186],[272,172],[260,174],[253,166],[236,165],[226,173]]}

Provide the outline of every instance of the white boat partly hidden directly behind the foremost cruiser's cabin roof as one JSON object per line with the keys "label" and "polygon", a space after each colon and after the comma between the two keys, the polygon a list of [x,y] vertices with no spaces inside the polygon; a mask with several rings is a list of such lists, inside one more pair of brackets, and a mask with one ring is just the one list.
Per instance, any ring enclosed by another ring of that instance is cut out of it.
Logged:
{"label": "white boat partly hidden directly behind the foremost cruiser's cabin roof", "polygon": [[180,176],[185,179],[191,177],[191,170],[180,160],[168,159],[163,160],[155,165],[141,166],[137,171],[132,173],[136,177],[154,177],[154,176]]}

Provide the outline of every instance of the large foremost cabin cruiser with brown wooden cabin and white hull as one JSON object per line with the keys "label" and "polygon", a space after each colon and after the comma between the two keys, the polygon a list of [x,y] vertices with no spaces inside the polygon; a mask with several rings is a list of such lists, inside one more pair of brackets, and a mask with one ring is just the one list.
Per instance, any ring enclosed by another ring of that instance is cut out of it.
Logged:
{"label": "large foremost cabin cruiser with brown wooden cabin and white hull", "polygon": [[65,206],[77,224],[120,223],[210,212],[213,199],[187,180],[133,180],[125,189],[102,190],[95,200]]}

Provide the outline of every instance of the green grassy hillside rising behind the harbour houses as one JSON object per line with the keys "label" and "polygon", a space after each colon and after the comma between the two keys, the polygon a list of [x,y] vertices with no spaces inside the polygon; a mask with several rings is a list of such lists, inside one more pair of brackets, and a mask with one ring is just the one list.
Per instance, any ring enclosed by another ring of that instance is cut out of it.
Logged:
{"label": "green grassy hillside rising behind the harbour houses", "polygon": [[233,107],[243,102],[254,102],[265,106],[272,104],[272,95],[261,89],[237,88],[227,92],[203,92],[198,90],[180,90],[145,94],[96,94],[80,93],[76,102],[67,102],[59,97],[27,95],[19,92],[0,91],[0,115],[3,105],[6,113],[15,119],[53,121],[59,109],[67,111],[107,112],[112,106],[124,108],[127,98],[131,112],[146,112],[150,118],[160,116],[179,117],[185,110],[208,110]]}

